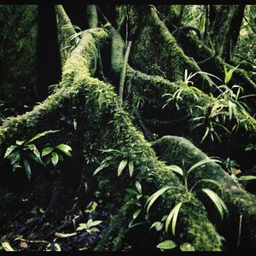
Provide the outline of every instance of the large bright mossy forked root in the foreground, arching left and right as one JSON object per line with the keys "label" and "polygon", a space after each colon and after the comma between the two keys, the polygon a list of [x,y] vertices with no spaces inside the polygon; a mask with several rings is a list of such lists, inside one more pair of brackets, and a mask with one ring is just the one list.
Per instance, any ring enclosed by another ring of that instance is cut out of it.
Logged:
{"label": "large bright mossy forked root in the foreground, arching left and right", "polygon": [[[175,186],[163,196],[160,206],[154,210],[155,215],[161,218],[164,212],[170,211],[173,203],[188,199],[183,195],[183,186],[177,177],[157,160],[142,134],[131,125],[127,114],[121,108],[117,108],[119,99],[113,92],[113,87],[90,77],[97,58],[97,55],[92,53],[97,52],[96,45],[99,45],[105,37],[106,33],[99,28],[84,32],[78,47],[73,50],[65,64],[60,88],[55,94],[49,96],[32,112],[11,118],[1,127],[0,155],[3,158],[4,150],[16,139],[20,139],[21,135],[36,134],[38,131],[49,129],[61,130],[55,141],[70,144],[73,147],[74,157],[76,154],[83,154],[89,163],[86,165],[86,176],[91,177],[92,172],[103,159],[103,154],[98,149],[119,149],[130,154],[131,159],[134,159],[136,168],[134,177],[129,178],[128,173],[124,173],[116,178],[116,166],[110,166],[108,170],[95,177],[96,180],[105,181],[112,195],[112,204],[117,208],[125,204],[124,187],[131,186],[136,179],[143,184],[146,193],[165,185]],[[84,68],[81,68],[82,66]],[[77,130],[73,128],[73,119],[78,121]],[[102,126],[104,126],[103,130]],[[79,138],[79,142],[74,141],[75,138]],[[191,214],[191,212],[196,213]],[[125,222],[131,218],[130,214],[131,211],[127,211]],[[121,223],[123,227],[126,227],[125,222]],[[111,227],[112,224],[109,226]],[[217,231],[208,221],[205,208],[194,196],[184,204],[180,212],[178,230],[177,240],[189,241],[196,250],[221,249]],[[112,239],[115,240],[113,247],[109,245]],[[109,237],[106,249],[124,250],[124,246],[125,228],[122,230],[122,237]]]}

